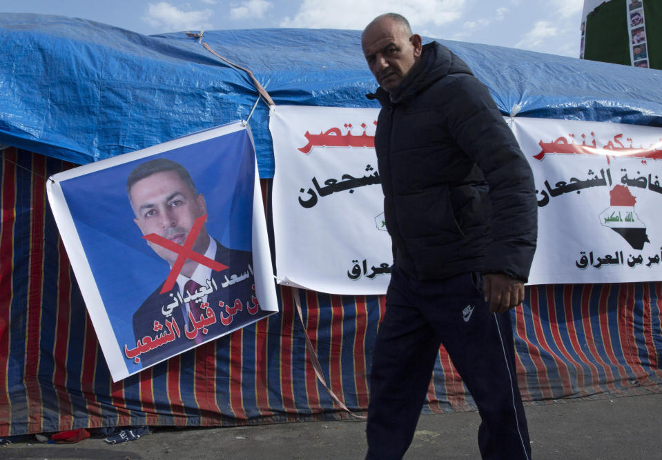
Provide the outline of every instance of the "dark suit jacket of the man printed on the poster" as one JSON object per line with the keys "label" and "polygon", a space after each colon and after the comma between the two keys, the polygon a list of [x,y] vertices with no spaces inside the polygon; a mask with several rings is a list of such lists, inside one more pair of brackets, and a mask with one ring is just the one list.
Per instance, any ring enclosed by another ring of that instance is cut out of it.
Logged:
{"label": "dark suit jacket of the man printed on the poster", "polygon": [[[203,341],[240,328],[246,323],[250,323],[269,314],[269,312],[263,312],[256,306],[253,253],[228,249],[218,241],[216,241],[216,245],[215,261],[228,266],[228,268],[218,272],[211,272],[213,279],[213,283],[211,284],[215,284],[216,287],[213,292],[207,294],[206,301],[209,308],[213,311],[216,321],[206,326],[206,334],[203,334],[202,329],[198,330],[197,333],[202,334]],[[250,269],[249,265],[251,266]],[[246,273],[248,277],[245,277]],[[237,278],[245,278],[233,282],[233,275],[236,275]],[[228,280],[231,282],[228,283]],[[184,321],[181,306],[177,305],[174,308],[168,308],[169,305],[173,304],[173,299],[177,297],[181,298],[177,283],[175,283],[175,286],[169,292],[159,294],[163,288],[163,284],[150,294],[142,306],[133,314],[133,334],[136,341],[139,341],[138,346],[142,343],[142,349],[144,350],[144,352],[139,354],[139,363],[142,363],[143,367],[150,366],[150,364],[171,357],[191,346],[195,346],[195,340],[187,337],[186,322]],[[205,286],[204,288],[207,287]],[[186,293],[184,294],[186,295]],[[201,303],[193,306],[192,310],[197,309],[198,312],[204,312],[204,317],[209,317],[210,315],[207,314],[208,310],[202,310],[199,305]],[[166,316],[164,310],[165,312],[169,312],[170,316]],[[155,321],[159,324],[155,325]],[[166,327],[168,326],[166,321],[171,323],[172,330],[175,329],[172,321],[175,321],[179,334],[177,334],[177,331],[171,332],[171,328]],[[155,330],[155,327],[157,330]],[[193,332],[193,329],[193,326],[189,326],[188,330]],[[163,341],[164,343],[161,345],[148,349],[150,347],[144,343],[144,337],[150,337],[150,339],[159,341],[158,337],[162,333],[171,337],[171,340]],[[127,353],[125,350],[125,354],[126,358],[135,359],[131,358],[135,352]]]}

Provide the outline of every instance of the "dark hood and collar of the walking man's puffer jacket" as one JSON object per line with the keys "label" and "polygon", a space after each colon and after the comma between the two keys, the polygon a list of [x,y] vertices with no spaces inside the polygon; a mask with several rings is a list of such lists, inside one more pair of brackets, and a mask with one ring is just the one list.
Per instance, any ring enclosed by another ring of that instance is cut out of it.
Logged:
{"label": "dark hood and collar of the walking man's puffer jacket", "polygon": [[420,61],[411,69],[400,86],[389,93],[381,86],[368,99],[377,99],[382,106],[387,103],[406,103],[428,88],[432,83],[452,74],[473,75],[467,63],[451,50],[433,41],[423,45]]}

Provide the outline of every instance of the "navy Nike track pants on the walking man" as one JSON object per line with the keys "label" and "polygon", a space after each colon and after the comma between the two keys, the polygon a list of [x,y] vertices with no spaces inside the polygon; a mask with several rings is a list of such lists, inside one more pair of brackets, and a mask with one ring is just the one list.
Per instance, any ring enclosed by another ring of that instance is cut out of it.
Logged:
{"label": "navy Nike track pants on the walking man", "polygon": [[[483,277],[417,281],[393,266],[370,375],[367,459],[400,459],[413,439],[440,343],[476,401],[484,459],[530,459],[508,313],[493,314]],[[453,452],[439,452],[439,457]]]}

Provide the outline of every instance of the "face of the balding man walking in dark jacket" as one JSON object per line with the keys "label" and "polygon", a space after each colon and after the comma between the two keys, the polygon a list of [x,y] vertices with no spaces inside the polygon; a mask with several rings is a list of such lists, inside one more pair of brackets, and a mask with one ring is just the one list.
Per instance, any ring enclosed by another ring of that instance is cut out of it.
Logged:
{"label": "face of the balding man walking in dark jacket", "polygon": [[422,49],[420,36],[409,37],[405,28],[388,17],[368,26],[361,44],[370,71],[388,92],[402,83]]}

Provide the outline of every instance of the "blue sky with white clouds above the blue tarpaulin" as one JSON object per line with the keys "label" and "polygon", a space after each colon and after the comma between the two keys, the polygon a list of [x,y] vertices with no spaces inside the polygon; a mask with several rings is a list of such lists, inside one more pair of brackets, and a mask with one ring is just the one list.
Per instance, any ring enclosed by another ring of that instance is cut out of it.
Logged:
{"label": "blue sky with white clouds above the blue tarpaulin", "polygon": [[382,12],[414,32],[578,57],[582,0],[1,0],[0,12],[61,14],[142,34],[242,28],[361,30]]}

